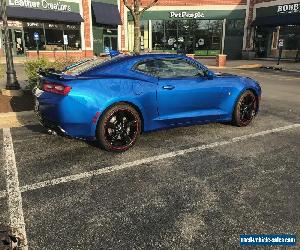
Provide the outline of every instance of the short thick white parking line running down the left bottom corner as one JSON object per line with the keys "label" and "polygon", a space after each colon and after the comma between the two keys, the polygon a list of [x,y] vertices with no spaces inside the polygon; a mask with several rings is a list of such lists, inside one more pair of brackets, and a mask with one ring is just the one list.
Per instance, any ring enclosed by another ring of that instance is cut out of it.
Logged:
{"label": "short thick white parking line running down the left bottom corner", "polygon": [[12,229],[13,234],[22,239],[22,249],[28,249],[22,207],[22,195],[19,187],[14,146],[9,128],[3,129],[3,153],[6,170],[6,193],[10,228]]}

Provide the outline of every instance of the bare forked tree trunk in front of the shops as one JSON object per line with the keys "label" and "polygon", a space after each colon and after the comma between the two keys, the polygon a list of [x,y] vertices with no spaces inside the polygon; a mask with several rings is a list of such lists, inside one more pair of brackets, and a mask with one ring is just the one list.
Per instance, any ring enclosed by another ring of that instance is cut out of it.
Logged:
{"label": "bare forked tree trunk in front of the shops", "polygon": [[134,24],[134,45],[133,51],[136,54],[141,52],[141,16],[143,13],[155,5],[158,0],[151,0],[146,7],[141,9],[141,0],[131,0],[131,3],[128,3],[128,0],[123,0],[124,5],[129,9]]}

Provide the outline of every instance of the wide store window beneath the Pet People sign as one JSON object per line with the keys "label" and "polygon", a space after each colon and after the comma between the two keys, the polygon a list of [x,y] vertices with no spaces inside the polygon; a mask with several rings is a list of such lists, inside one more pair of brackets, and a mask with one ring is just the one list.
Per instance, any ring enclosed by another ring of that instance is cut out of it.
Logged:
{"label": "wide store window beneath the Pet People sign", "polygon": [[220,53],[223,20],[152,21],[153,50],[197,55]]}

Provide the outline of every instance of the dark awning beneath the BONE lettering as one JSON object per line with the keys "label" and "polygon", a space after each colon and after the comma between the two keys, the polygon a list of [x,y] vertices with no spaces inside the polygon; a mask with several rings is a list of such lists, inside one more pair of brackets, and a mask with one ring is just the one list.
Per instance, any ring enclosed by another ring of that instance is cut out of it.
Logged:
{"label": "dark awning beneath the BONE lettering", "polygon": [[257,17],[252,26],[280,26],[280,25],[292,25],[300,24],[300,13],[290,15],[278,15],[268,17]]}

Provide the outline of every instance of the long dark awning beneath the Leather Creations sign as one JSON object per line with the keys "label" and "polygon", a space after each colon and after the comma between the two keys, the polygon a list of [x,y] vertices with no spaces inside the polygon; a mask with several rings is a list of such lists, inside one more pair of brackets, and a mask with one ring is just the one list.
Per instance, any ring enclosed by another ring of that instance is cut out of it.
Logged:
{"label": "long dark awning beneath the Leather Creations sign", "polygon": [[79,13],[68,11],[40,10],[7,6],[9,19],[43,20],[69,23],[80,23],[83,19]]}

